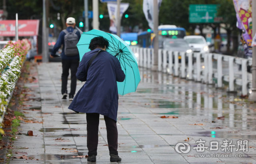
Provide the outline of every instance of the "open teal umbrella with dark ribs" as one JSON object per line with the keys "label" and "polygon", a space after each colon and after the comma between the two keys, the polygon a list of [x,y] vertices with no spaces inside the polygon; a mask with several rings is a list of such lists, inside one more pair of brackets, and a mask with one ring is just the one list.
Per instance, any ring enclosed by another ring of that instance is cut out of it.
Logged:
{"label": "open teal umbrella with dark ribs", "polygon": [[89,44],[92,38],[102,36],[109,42],[107,52],[116,56],[120,61],[122,70],[125,74],[124,82],[117,82],[118,94],[124,95],[135,92],[140,82],[140,72],[138,69],[137,58],[129,45],[114,34],[100,30],[90,30],[81,34],[81,38],[76,45],[80,54],[80,60],[86,52],[89,52]]}

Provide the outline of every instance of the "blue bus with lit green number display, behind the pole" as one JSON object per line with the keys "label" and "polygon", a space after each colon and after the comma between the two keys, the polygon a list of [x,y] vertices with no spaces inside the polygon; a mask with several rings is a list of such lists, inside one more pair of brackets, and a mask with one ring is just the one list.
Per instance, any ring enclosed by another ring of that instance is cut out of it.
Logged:
{"label": "blue bus with lit green number display, behind the pole", "polygon": [[[150,48],[154,45],[151,42],[151,34],[153,30],[143,31],[138,33],[138,44],[143,48]],[[162,45],[164,38],[184,38],[186,36],[185,28],[175,25],[160,25],[158,26],[159,45]]]}

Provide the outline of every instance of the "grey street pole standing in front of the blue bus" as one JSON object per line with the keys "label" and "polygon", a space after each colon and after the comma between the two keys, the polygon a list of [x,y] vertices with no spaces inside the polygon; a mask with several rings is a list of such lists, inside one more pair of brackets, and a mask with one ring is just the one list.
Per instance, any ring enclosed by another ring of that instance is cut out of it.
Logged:
{"label": "grey street pole standing in front of the blue bus", "polygon": [[154,64],[152,71],[158,70],[158,3],[157,0],[154,0]]}

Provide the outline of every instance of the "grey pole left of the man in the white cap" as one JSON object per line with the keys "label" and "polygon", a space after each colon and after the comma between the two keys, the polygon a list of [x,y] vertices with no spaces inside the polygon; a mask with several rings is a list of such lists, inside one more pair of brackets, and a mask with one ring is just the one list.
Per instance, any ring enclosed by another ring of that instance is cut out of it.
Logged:
{"label": "grey pole left of the man in the white cap", "polygon": [[42,62],[48,62],[48,35],[46,28],[46,0],[43,0],[43,22],[42,22]]}

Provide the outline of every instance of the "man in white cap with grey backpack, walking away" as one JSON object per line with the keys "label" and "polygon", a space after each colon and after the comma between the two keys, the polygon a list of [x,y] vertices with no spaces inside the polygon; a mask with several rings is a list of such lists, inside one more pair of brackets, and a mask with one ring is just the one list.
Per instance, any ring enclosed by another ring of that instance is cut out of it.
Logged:
{"label": "man in white cap with grey backpack, walking away", "polygon": [[62,30],[60,32],[60,35],[58,37],[58,40],[56,44],[54,45],[54,48],[52,49],[52,52],[50,54],[51,58],[57,57],[56,52],[62,45],[62,53],[61,53],[61,59],[62,59],[62,85],[61,85],[61,93],[62,93],[62,99],[66,99],[68,96],[68,75],[69,75],[69,69],[71,70],[71,89],[69,93],[69,100],[72,101],[74,99],[74,94],[76,92],[76,72],[77,68],[79,66],[79,52],[76,47],[76,44],[78,43],[81,35],[80,32],[75,28],[76,26],[76,20],[75,18],[69,17],[66,20],[66,26],[67,29]]}

